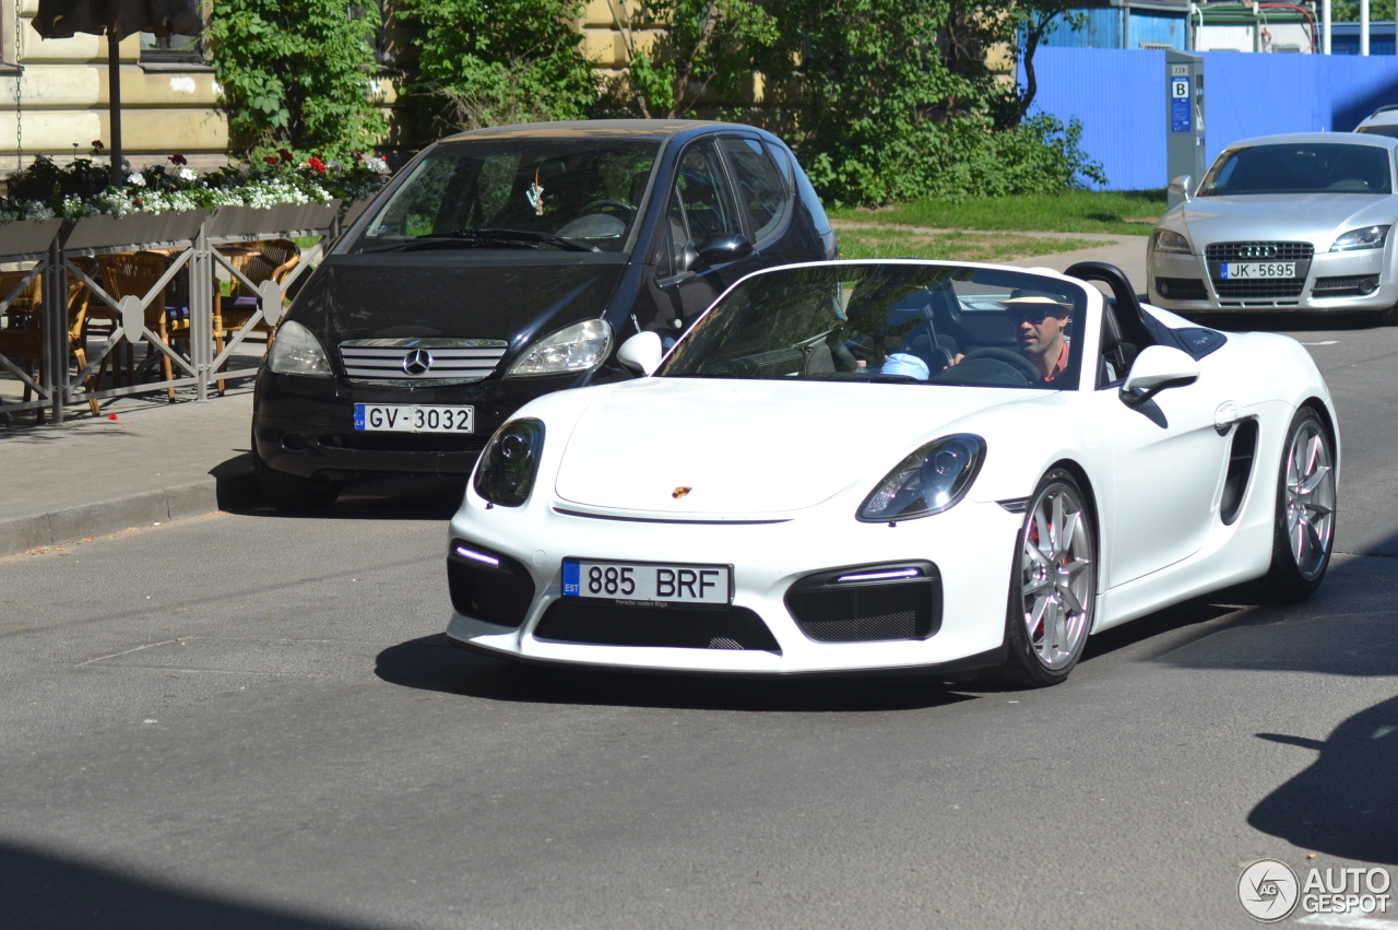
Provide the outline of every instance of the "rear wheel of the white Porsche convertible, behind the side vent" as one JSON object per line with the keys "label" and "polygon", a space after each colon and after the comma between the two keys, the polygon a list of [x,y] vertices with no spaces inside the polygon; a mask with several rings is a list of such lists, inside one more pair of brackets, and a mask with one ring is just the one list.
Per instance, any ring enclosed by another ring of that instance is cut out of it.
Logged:
{"label": "rear wheel of the white Porsche convertible, behind the side vent", "polygon": [[1272,566],[1267,596],[1303,601],[1316,593],[1335,543],[1335,448],[1314,407],[1292,417],[1276,475]]}

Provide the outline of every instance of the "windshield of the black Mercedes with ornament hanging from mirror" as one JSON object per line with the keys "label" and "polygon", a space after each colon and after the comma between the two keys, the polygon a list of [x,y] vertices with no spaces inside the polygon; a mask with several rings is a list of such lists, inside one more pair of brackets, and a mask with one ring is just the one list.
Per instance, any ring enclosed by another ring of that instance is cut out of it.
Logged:
{"label": "windshield of the black Mercedes with ornament hanging from mirror", "polygon": [[351,252],[621,252],[660,143],[487,137],[445,143],[412,168]]}

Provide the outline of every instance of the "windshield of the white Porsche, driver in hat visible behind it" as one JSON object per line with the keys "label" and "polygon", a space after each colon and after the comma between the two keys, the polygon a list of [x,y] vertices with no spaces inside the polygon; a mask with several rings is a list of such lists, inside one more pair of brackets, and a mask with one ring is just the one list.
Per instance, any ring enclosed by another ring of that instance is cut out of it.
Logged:
{"label": "windshield of the white Porsche, driver in hat visible behind it", "polygon": [[691,330],[664,378],[1075,389],[1083,291],[1011,269],[844,263],[752,276]]}

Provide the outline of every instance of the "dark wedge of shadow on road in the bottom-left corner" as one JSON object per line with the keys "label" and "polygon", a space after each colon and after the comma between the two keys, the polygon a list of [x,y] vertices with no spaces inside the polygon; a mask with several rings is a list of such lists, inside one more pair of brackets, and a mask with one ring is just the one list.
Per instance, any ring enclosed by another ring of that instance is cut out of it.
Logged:
{"label": "dark wedge of shadow on road in the bottom-left corner", "polygon": [[122,875],[73,859],[0,843],[7,927],[43,930],[352,930],[362,924],[270,910]]}

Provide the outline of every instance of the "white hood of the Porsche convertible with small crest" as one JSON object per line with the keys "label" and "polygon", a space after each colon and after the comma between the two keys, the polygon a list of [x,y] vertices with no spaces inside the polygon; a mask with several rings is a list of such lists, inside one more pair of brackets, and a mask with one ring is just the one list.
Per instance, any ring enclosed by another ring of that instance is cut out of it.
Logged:
{"label": "white hood of the Porsche convertible with small crest", "polygon": [[920,445],[909,445],[909,422],[925,425],[925,442],[980,410],[1042,394],[858,387],[653,378],[601,390],[566,438],[555,491],[587,508],[670,517],[798,510],[856,481],[872,491]]}

